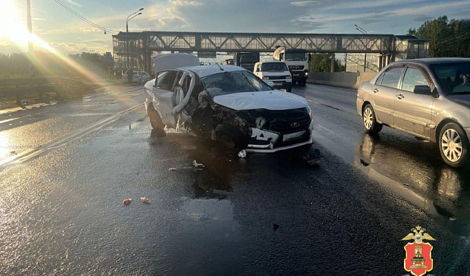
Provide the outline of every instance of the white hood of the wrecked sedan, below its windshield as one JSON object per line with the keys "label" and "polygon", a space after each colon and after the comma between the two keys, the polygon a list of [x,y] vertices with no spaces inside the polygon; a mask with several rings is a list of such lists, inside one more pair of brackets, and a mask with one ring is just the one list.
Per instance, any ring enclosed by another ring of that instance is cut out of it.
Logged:
{"label": "white hood of the wrecked sedan, below its windshield", "polygon": [[279,90],[218,95],[213,100],[216,104],[236,111],[259,108],[281,111],[308,106],[306,99],[303,97]]}

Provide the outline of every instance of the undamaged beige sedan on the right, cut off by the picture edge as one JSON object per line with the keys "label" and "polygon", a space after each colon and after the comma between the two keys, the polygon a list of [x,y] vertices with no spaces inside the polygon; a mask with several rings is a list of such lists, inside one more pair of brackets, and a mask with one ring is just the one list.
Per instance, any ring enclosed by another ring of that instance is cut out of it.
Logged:
{"label": "undamaged beige sedan on the right, cut off by the picture edge", "polygon": [[389,126],[438,143],[445,163],[468,164],[470,58],[393,62],[358,89],[356,107],[368,133]]}

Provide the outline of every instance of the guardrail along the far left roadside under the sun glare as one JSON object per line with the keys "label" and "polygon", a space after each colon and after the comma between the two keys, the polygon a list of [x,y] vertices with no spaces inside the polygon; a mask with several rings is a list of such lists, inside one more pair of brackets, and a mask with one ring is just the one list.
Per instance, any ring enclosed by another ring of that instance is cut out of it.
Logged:
{"label": "guardrail along the far left roadside under the sun glare", "polygon": [[92,90],[92,86],[89,84],[70,78],[9,78],[0,79],[0,99],[16,97],[18,106],[25,108],[24,104],[21,102],[21,99],[25,95],[37,93],[39,99],[42,99],[44,93],[52,92],[56,93],[58,100],[63,100],[61,92],[69,87],[78,87],[85,91]]}

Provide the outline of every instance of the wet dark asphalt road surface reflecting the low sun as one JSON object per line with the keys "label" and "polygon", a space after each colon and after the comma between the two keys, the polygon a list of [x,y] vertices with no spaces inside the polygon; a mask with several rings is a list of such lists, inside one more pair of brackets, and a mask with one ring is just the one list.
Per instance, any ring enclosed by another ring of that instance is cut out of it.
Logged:
{"label": "wet dark asphalt road surface reflecting the low sun", "polygon": [[[0,115],[0,160],[16,162],[0,168],[0,275],[403,275],[416,225],[436,238],[431,274],[470,275],[469,168],[396,130],[365,135],[354,91],[294,93],[314,145],[246,159],[152,133],[129,110],[137,86]],[[298,158],[313,148],[318,168]]]}

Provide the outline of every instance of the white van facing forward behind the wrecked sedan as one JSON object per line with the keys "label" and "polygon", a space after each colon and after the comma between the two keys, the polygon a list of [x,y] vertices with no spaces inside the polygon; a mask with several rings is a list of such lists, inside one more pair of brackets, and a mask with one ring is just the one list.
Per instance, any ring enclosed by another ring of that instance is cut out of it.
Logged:
{"label": "white van facing forward behind the wrecked sedan", "polygon": [[271,81],[275,89],[286,89],[292,91],[292,76],[286,65],[282,61],[265,61],[255,64],[255,75],[261,80]]}

